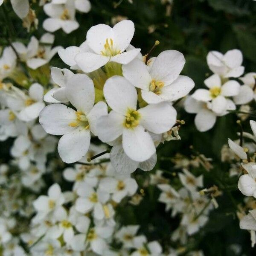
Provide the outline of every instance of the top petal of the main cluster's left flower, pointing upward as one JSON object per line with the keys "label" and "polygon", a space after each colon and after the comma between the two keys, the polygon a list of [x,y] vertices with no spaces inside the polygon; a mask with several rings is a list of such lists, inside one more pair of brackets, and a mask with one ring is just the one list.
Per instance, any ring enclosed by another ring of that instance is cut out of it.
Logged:
{"label": "top petal of the main cluster's left flower, pointing upward", "polygon": [[93,108],[95,92],[93,80],[85,74],[76,74],[68,80],[66,94],[77,111],[88,114]]}

